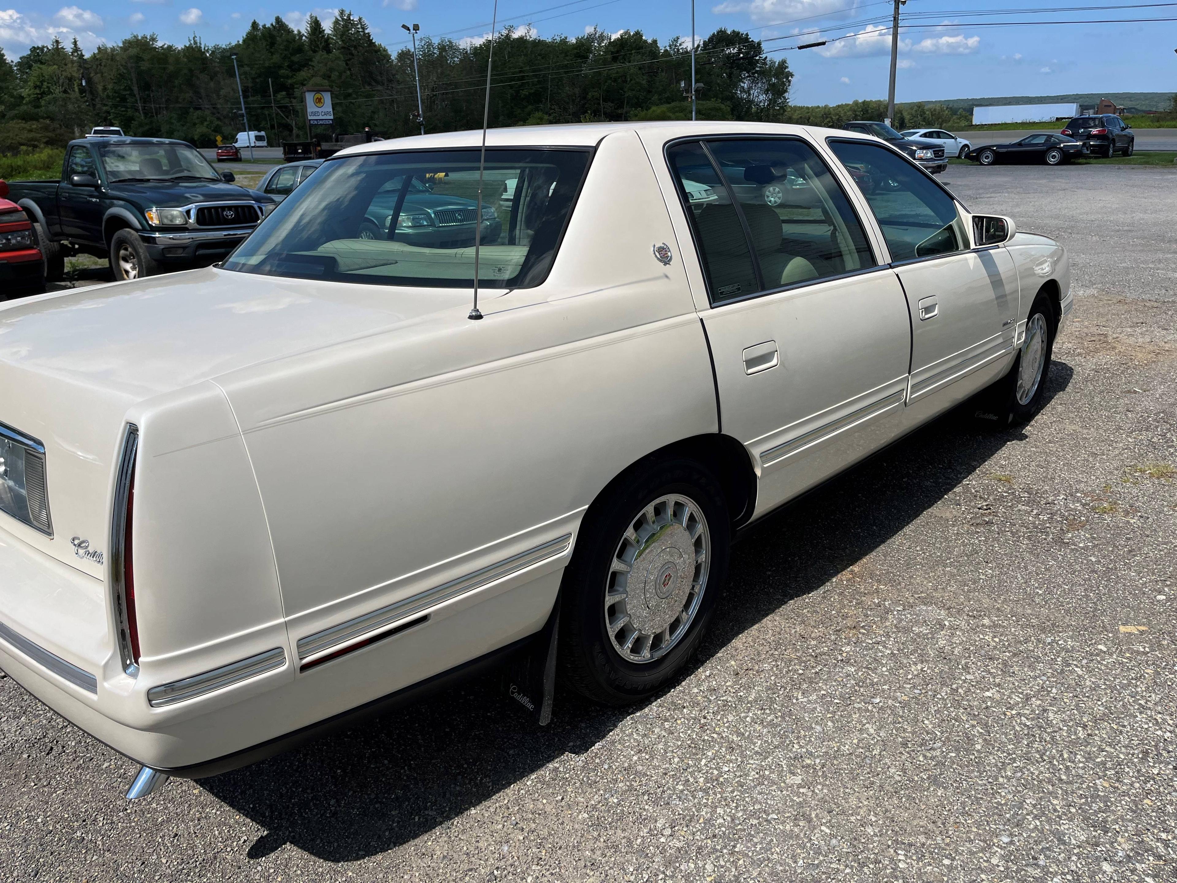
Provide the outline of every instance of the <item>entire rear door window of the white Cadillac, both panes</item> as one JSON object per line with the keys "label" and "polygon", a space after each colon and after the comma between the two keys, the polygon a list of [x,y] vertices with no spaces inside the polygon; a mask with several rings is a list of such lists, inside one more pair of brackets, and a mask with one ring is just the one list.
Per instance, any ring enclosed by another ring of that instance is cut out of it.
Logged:
{"label": "entire rear door window of the white Cadillac, both panes", "polygon": [[714,164],[697,142],[669,155],[712,303],[875,266],[850,203],[804,141],[725,139],[707,148]]}

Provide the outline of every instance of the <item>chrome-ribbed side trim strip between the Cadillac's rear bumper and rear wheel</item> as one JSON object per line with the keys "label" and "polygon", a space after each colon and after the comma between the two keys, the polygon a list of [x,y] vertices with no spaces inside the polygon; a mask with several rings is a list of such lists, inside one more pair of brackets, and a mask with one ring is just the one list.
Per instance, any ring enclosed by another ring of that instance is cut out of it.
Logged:
{"label": "chrome-ribbed side trim strip between the Cadillac's rear bumper and rear wheel", "polygon": [[305,638],[299,638],[298,658],[306,659],[310,656],[314,656],[315,653],[337,646],[338,644],[344,644],[368,632],[375,631],[377,629],[394,623],[398,619],[419,613],[426,608],[443,604],[444,602],[452,600],[458,596],[472,592],[476,589],[481,589],[484,585],[493,583],[497,579],[508,577],[512,573],[524,570],[525,567],[532,566],[533,564],[539,564],[548,558],[559,557],[564,555],[571,545],[572,535],[565,533],[563,537],[543,543],[534,549],[528,549],[526,552],[520,552],[511,558],[506,558],[497,564],[483,567],[481,570],[476,570],[473,573],[467,573],[464,577],[452,579],[448,583],[434,586],[433,589],[426,589],[424,592],[419,592],[410,598],[399,600],[395,604],[390,604],[386,608],[373,610],[371,613],[364,613],[354,619],[348,619],[346,623],[340,623],[339,625],[333,625],[330,629],[324,629],[322,631],[317,631],[313,635],[307,635]]}

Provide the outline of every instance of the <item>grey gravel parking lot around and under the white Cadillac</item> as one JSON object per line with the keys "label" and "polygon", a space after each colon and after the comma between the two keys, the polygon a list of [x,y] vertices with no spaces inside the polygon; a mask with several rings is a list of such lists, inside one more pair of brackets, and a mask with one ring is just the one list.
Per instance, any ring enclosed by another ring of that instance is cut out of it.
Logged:
{"label": "grey gravel parking lot around and under the white Cadillac", "polygon": [[1070,250],[1049,404],[949,416],[736,549],[637,709],[490,682],[122,801],[0,679],[6,881],[1177,879],[1177,170],[953,166]]}

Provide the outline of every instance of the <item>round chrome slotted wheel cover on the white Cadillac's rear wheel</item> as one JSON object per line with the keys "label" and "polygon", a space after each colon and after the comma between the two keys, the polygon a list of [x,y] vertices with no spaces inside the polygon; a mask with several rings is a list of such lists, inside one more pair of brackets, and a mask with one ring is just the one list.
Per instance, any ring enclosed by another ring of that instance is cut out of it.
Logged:
{"label": "round chrome slotted wheel cover on the white Cadillac's rear wheel", "polygon": [[690,497],[659,497],[639,512],[605,580],[605,630],[631,663],[661,658],[686,635],[711,566],[711,535]]}

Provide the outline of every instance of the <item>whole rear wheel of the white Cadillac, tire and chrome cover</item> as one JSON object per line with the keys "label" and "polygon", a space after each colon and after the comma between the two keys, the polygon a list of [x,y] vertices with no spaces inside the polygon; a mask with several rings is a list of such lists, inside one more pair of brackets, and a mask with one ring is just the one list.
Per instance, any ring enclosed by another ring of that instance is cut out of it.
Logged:
{"label": "whole rear wheel of the white Cadillac, tire and chrome cover", "polygon": [[558,658],[578,692],[624,705],[683,669],[727,572],[730,525],[692,460],[647,467],[590,509],[561,586]]}

